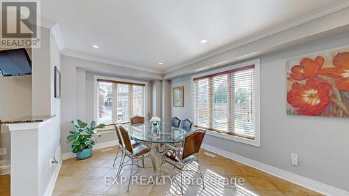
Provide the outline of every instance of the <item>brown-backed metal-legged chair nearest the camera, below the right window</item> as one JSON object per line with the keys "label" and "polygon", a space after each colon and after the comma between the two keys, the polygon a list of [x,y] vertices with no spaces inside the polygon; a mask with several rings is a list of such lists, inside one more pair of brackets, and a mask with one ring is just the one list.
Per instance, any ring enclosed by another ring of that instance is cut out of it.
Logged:
{"label": "brown-backed metal-legged chair nearest the camera, below the right window", "polygon": [[202,185],[205,189],[205,182],[202,178],[202,173],[200,169],[199,163],[199,151],[202,144],[202,140],[204,140],[206,130],[195,130],[195,132],[186,135],[184,139],[183,148],[178,149],[170,149],[163,153],[161,157],[162,163],[160,166],[160,176],[162,174],[162,167],[164,163],[170,163],[170,165],[174,166],[178,169],[179,174],[181,175],[181,195],[183,195],[183,171],[184,167],[189,163],[193,163],[193,161],[198,162],[199,172],[191,169],[186,169],[185,171],[192,171],[199,174],[202,179]]}

